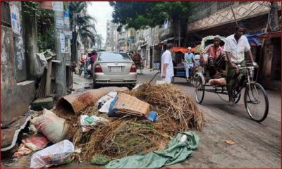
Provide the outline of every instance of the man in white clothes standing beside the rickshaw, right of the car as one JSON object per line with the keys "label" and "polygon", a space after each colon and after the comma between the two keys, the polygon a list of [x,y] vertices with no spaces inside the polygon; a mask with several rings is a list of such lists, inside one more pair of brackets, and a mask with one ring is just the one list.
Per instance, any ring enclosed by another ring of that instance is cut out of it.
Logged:
{"label": "man in white clothes standing beside the rickshaw, right of the car", "polygon": [[174,76],[173,62],[172,62],[172,48],[173,44],[166,45],[166,51],[161,55],[161,78],[164,82],[171,83]]}

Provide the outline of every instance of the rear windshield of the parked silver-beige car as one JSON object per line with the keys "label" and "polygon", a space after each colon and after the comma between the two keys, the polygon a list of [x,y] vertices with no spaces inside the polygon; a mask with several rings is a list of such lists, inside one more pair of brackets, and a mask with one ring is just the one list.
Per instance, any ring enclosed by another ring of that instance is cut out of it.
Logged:
{"label": "rear windshield of the parked silver-beige car", "polygon": [[98,61],[131,61],[131,60],[128,54],[100,53]]}

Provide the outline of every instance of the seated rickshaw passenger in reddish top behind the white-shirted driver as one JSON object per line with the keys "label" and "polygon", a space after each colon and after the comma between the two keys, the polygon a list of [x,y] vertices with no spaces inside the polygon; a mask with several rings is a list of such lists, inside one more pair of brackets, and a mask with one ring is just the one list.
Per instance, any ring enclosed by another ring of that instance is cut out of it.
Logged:
{"label": "seated rickshaw passenger in reddish top behind the white-shirted driver", "polygon": [[201,56],[203,60],[204,54],[209,55],[205,67],[209,72],[209,77],[215,79],[225,77],[226,54],[219,45],[220,43],[221,37],[216,35],[214,37],[214,44],[207,46],[206,50],[202,52]]}

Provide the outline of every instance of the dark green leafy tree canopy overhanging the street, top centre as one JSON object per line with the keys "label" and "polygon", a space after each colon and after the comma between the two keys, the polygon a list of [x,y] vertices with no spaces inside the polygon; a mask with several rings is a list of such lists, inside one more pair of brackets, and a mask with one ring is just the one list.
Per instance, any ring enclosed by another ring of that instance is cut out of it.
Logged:
{"label": "dark green leafy tree canopy overhanging the street, top centre", "polygon": [[133,27],[135,30],[146,26],[162,25],[164,20],[173,23],[174,35],[186,32],[188,22],[188,9],[191,2],[185,1],[159,1],[159,2],[109,2],[114,8],[113,22]]}

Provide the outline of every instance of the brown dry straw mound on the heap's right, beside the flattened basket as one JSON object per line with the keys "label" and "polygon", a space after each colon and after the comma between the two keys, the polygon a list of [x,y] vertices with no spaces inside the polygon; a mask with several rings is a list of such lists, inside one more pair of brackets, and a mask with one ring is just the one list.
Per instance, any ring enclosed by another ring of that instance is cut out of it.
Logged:
{"label": "brown dry straw mound on the heap's right, beside the flattened basket", "polygon": [[202,112],[198,110],[190,96],[172,84],[142,84],[128,94],[151,104],[158,112],[158,125],[167,129],[167,132],[188,131],[190,128],[202,129]]}

